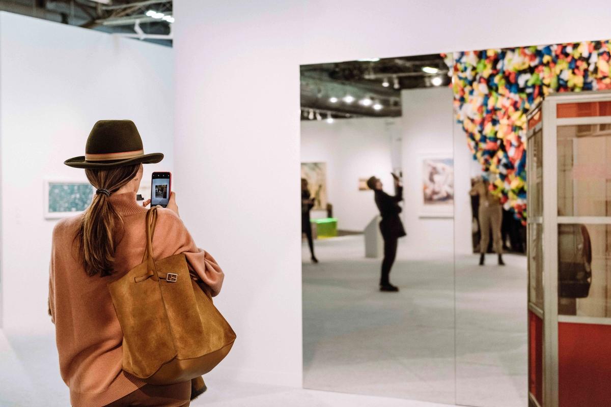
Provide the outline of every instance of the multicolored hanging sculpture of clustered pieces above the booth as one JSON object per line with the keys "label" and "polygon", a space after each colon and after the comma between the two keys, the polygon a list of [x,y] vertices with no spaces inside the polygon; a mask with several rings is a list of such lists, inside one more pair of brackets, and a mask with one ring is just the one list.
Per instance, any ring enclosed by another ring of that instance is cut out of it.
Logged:
{"label": "multicolored hanging sculpture of clustered pieces above the booth", "polygon": [[525,113],[550,92],[611,88],[611,40],[455,52],[456,120],[505,209],[526,220]]}

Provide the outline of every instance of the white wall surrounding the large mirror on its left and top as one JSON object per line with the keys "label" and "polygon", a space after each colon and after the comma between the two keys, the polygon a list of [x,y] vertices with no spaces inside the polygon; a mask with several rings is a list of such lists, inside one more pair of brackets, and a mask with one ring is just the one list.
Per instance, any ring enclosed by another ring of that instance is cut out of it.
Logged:
{"label": "white wall surrounding the large mirror on its left and top", "polygon": [[181,215],[225,269],[216,304],[238,335],[212,374],[301,386],[299,65],[611,37],[607,2],[574,10],[567,0],[175,2]]}

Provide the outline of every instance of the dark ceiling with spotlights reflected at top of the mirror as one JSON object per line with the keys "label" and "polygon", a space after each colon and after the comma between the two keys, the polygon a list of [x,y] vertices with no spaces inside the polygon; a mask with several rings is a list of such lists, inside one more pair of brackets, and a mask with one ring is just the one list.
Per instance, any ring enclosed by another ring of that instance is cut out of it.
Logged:
{"label": "dark ceiling with spotlights reflected at top of the mirror", "polygon": [[301,120],[401,116],[401,90],[447,86],[439,54],[301,66]]}

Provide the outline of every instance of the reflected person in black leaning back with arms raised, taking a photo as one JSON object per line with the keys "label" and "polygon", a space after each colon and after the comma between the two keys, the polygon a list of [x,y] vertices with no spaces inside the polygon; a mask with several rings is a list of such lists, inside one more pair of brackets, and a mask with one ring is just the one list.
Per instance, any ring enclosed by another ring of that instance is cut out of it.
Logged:
{"label": "reflected person in black leaning back with arms raised, taking a photo", "polygon": [[382,216],[380,231],[384,238],[384,260],[382,261],[382,273],[380,276],[380,291],[398,291],[397,286],[390,284],[389,275],[395,258],[397,257],[397,245],[400,237],[406,236],[405,229],[399,214],[401,213],[400,201],[403,200],[403,186],[396,175],[395,196],[388,195],[382,190],[382,182],[379,178],[372,176],[367,180],[367,186],[375,193],[376,205]]}

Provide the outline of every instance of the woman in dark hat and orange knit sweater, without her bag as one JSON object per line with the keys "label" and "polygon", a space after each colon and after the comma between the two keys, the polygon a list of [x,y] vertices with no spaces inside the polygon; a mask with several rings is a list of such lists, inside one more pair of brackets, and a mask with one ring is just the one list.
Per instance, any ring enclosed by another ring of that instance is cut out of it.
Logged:
{"label": "woman in dark hat and orange knit sweater, without her bag", "polygon": [[[193,394],[191,381],[153,386],[122,370],[123,334],[106,287],[142,262],[144,206],[150,200],[139,205],[136,192],[142,164],[161,159],[161,153],[144,154],[132,121],[102,120],[89,134],[85,156],[64,162],[84,168],[96,189],[83,214],[65,218],[53,229],[49,267],[49,314],[56,328],[59,369],[75,407],[188,406],[205,389],[202,380],[194,381],[198,387]],[[178,217],[174,193],[167,208],[158,208],[153,251],[160,259],[184,253],[210,294],[219,294],[223,272],[210,254],[197,248]]]}

